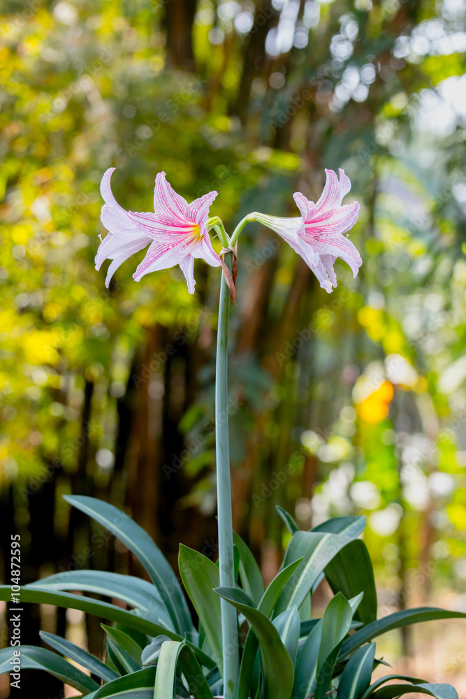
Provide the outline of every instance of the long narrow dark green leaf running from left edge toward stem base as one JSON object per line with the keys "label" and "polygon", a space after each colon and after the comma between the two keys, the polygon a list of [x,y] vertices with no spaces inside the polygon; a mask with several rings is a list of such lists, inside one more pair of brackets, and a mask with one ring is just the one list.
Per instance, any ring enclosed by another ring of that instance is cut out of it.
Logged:
{"label": "long narrow dark green leaf running from left edge toward stem base", "polygon": [[[10,602],[10,586],[0,585],[0,600]],[[175,641],[183,640],[180,635],[174,633],[171,629],[165,628],[165,626],[160,626],[150,619],[145,619],[145,617],[139,616],[138,614],[123,610],[121,607],[117,607],[116,605],[110,605],[107,602],[99,602],[99,600],[93,600],[90,597],[84,597],[82,595],[51,591],[41,589],[39,587],[34,587],[34,589],[23,587],[21,589],[21,601],[37,604],[45,603],[55,605],[56,607],[66,607],[66,609],[89,612],[89,614],[96,614],[97,617],[101,617],[102,619],[118,621],[119,624],[124,624],[129,628],[133,628],[136,631],[142,631],[150,636],[165,634]],[[215,667],[215,663],[212,658],[197,648],[194,648],[194,651],[196,652],[196,655],[201,663],[203,663],[206,668]]]}

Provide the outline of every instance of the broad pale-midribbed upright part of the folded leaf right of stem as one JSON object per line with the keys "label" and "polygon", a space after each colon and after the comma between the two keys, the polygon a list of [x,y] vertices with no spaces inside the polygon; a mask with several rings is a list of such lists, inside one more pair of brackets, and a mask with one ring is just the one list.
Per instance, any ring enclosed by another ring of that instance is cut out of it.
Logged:
{"label": "broad pale-midribbed upright part of the folded leaf right of stem", "polygon": [[275,614],[280,614],[293,605],[299,608],[326,565],[349,542],[347,536],[327,532],[297,531],[293,534],[285,552],[283,565],[289,565],[300,558],[304,560],[284,587],[275,607]]}

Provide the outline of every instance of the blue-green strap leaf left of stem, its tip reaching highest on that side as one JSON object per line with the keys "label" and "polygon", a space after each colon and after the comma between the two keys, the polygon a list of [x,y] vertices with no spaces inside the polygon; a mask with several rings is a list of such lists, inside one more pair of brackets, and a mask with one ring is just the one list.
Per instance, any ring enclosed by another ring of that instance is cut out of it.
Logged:
{"label": "blue-green strap leaf left of stem, its tip reaching highest on that side", "polygon": [[109,503],[87,496],[65,496],[68,503],[89,514],[126,545],[149,573],[163,604],[173,620],[175,631],[184,635],[194,626],[180,584],[166,558],[150,536],[127,514]]}

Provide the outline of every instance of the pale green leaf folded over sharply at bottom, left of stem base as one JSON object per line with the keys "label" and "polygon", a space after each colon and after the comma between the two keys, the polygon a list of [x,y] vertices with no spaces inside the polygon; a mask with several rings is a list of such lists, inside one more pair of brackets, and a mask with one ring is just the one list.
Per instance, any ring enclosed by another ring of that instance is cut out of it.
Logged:
{"label": "pale green leaf folded over sharply at bottom, left of stem base", "polygon": [[179,665],[194,699],[213,699],[212,692],[194,656],[185,643],[162,644],[155,677],[154,699],[172,699],[175,695],[176,670]]}

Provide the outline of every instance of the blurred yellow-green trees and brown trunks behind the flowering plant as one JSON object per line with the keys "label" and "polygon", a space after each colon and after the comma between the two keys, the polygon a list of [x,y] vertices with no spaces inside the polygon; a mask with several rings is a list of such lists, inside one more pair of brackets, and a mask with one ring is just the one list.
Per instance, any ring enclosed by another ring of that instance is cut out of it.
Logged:
{"label": "blurred yellow-green trees and brown trunks behind the flowering plant", "polygon": [[235,527],[270,578],[276,504],[303,527],[364,513],[381,605],[465,592],[465,38],[452,0],[3,2],[0,494],[24,582],[131,571],[72,491],[126,507],[174,565],[179,542],[215,555],[219,271],[196,265],[189,296],[177,268],[133,282],[141,254],[106,291],[105,169],[130,210],[160,170],[188,200],[217,189],[231,231],[296,215],[340,167],[357,280],[341,264],[329,296],[272,234],[240,239]]}

